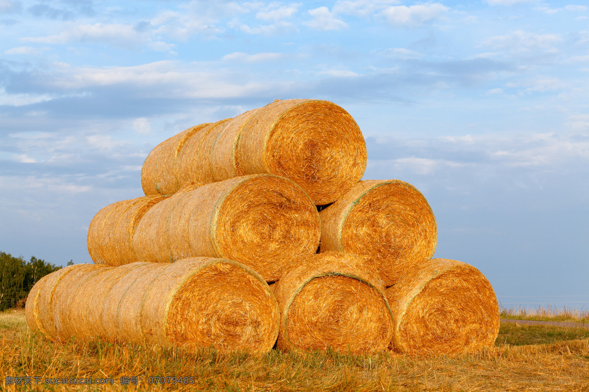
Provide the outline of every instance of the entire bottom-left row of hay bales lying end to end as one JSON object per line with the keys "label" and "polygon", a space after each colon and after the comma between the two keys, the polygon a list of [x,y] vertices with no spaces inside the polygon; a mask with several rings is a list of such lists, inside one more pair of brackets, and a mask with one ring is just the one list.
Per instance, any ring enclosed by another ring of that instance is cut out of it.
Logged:
{"label": "entire bottom-left row of hay bales lying end to end", "polygon": [[[77,266],[50,274],[36,289],[55,283],[52,300],[38,301],[52,315],[45,328],[51,339],[101,336],[254,353],[270,351],[277,339],[276,299],[243,264],[194,257],[174,264]],[[97,285],[101,292],[92,292]],[[34,318],[27,322],[35,328]]]}

